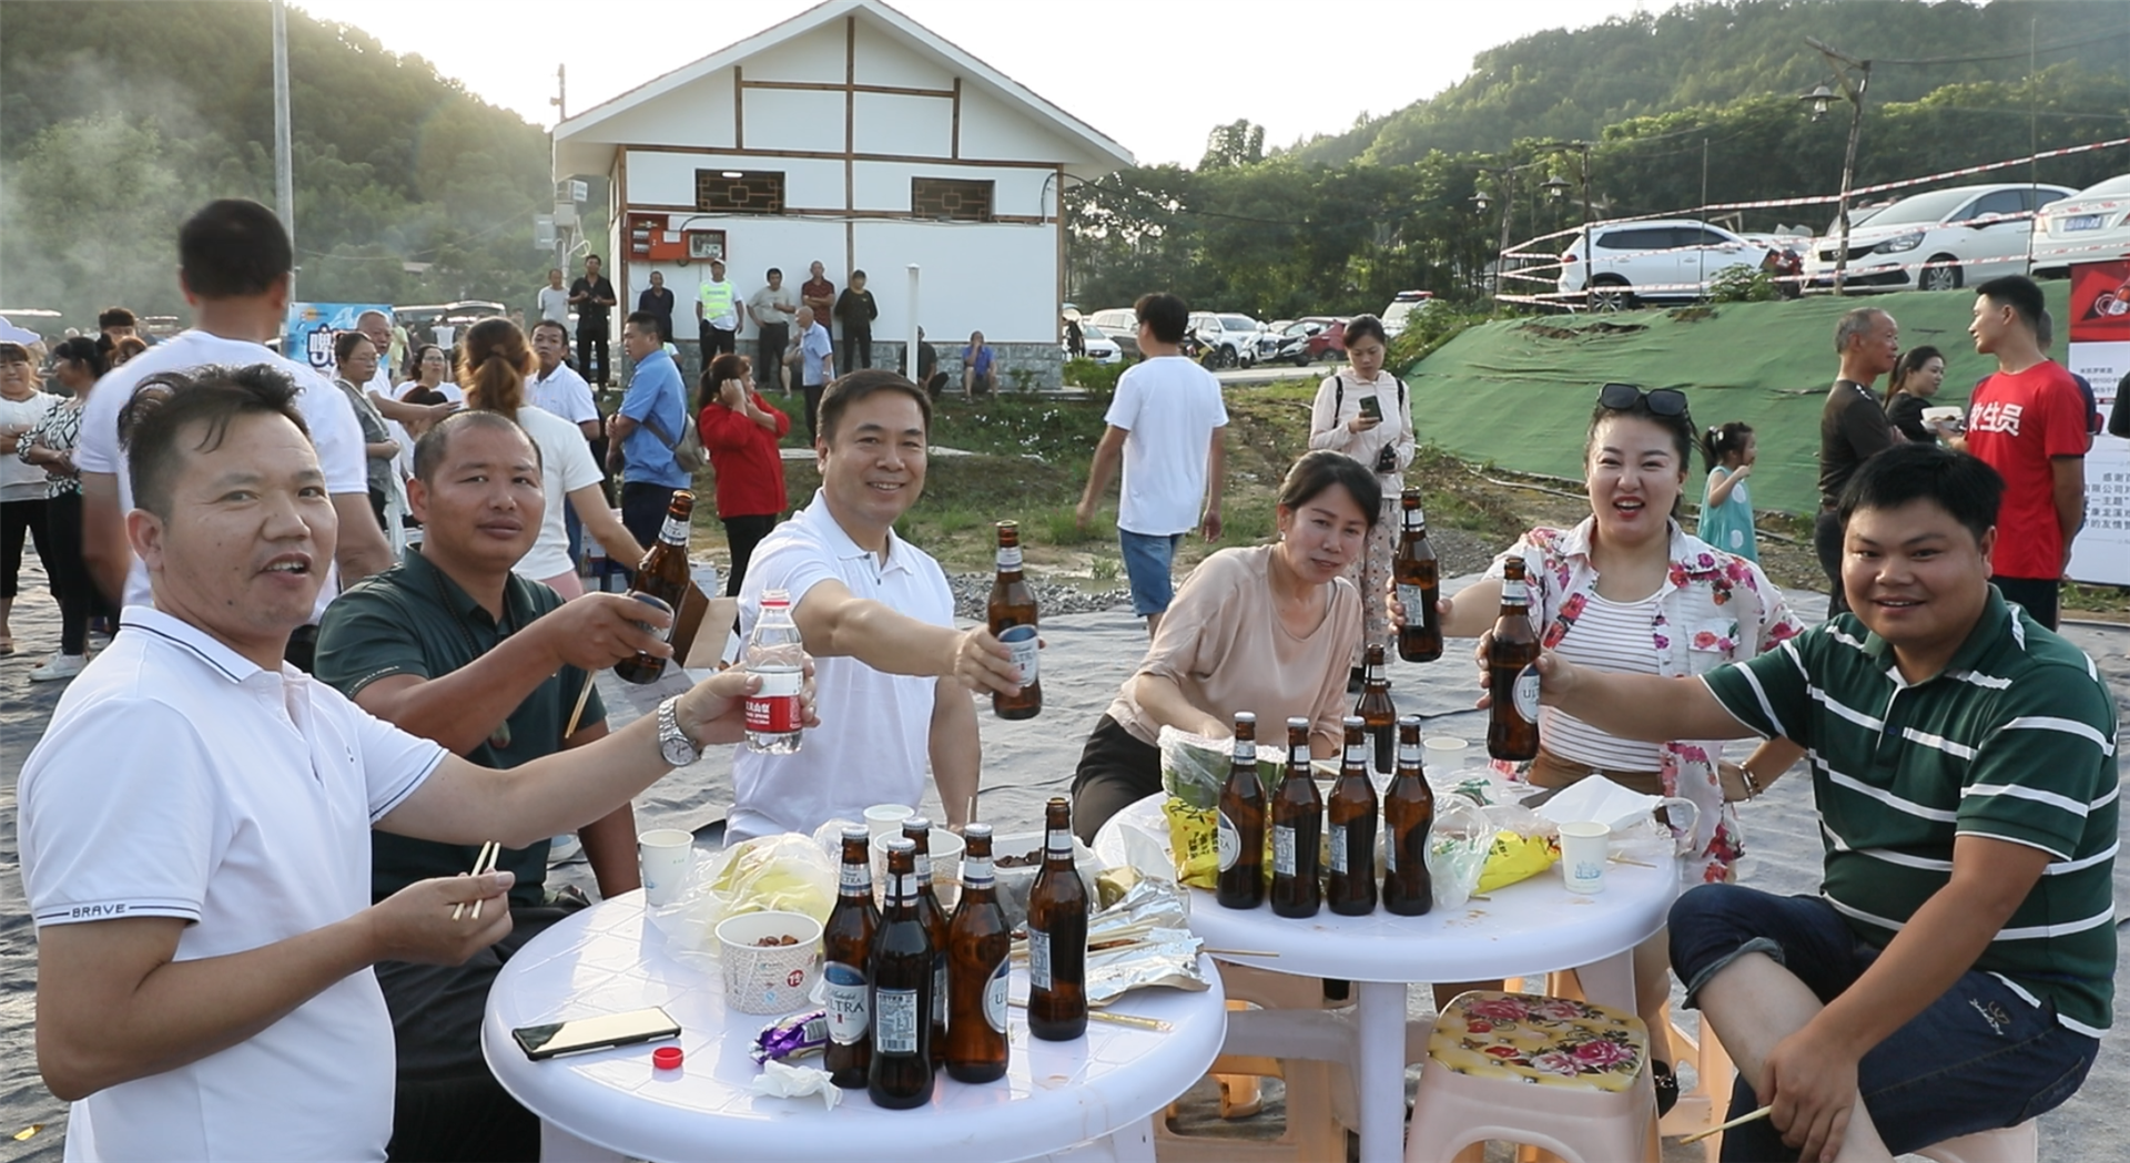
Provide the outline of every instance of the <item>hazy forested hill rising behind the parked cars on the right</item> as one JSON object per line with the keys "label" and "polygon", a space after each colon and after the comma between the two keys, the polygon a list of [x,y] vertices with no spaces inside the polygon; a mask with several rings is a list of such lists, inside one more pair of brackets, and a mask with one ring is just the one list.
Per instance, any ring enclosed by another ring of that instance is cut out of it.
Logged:
{"label": "hazy forested hill rising behind the parked cars on the right", "polygon": [[[1791,96],[1832,68],[1815,36],[1874,68],[1874,102],[1908,102],[1955,83],[2021,81],[2028,40],[2041,68],[2121,72],[2130,4],[2121,0],[1727,0],[1549,30],[1478,53],[1448,89],[1342,134],[1291,149],[1299,162],[1404,164],[1502,151],[1517,138],[1595,138],[1606,126],[1744,96]],[[2113,34],[2113,36],[2111,36]],[[1425,49],[1389,49],[1399,51]],[[1998,58],[1938,64],[1894,60]],[[1391,62],[1395,68],[1395,60]]]}

